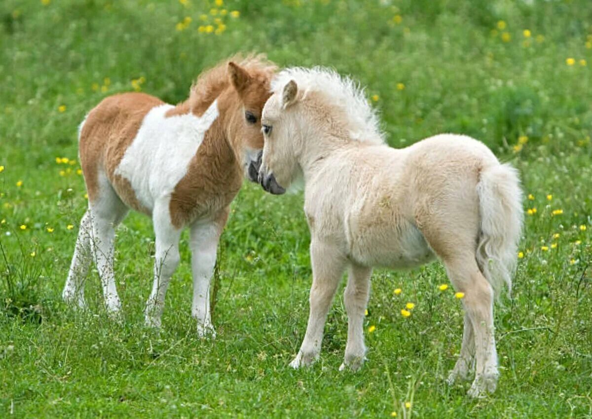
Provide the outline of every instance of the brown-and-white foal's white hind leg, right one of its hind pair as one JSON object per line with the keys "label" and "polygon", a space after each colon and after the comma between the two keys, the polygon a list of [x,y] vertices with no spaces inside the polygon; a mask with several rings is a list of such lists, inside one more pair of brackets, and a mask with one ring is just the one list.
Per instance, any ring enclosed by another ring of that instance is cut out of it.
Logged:
{"label": "brown-and-white foal's white hind leg, right one of its hind pair", "polygon": [[91,250],[101,278],[105,307],[110,313],[117,314],[121,310],[121,302],[115,287],[113,269],[115,227],[121,223],[128,209],[107,179],[102,178],[99,185],[98,196],[90,204]]}

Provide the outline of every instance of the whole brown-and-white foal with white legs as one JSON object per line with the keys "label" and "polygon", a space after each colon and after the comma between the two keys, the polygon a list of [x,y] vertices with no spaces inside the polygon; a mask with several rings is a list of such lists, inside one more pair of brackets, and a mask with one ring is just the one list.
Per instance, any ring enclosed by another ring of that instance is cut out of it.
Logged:
{"label": "whole brown-and-white foal with white legs", "polygon": [[85,306],[83,279],[92,254],[107,310],[121,310],[113,270],[115,227],[131,208],[152,217],[156,236],[146,323],[160,326],[166,288],[179,263],[179,237],[188,226],[191,311],[200,335],[213,331],[209,289],[218,239],[244,174],[256,181],[260,115],[275,69],[261,57],[234,57],[203,73],[176,107],[127,93],[92,109],[79,131],[89,206],[63,291],[67,302]]}

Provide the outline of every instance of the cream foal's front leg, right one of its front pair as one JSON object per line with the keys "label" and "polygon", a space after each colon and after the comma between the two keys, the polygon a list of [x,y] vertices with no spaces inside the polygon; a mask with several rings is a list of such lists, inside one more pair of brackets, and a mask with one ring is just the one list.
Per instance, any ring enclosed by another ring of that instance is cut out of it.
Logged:
{"label": "cream foal's front leg, right one of its front pair", "polygon": [[372,268],[350,265],[348,286],[343,292],[345,309],[348,312],[348,343],[345,347],[345,360],[339,370],[349,366],[358,370],[364,362],[366,346],[364,344],[363,321],[370,294],[370,276]]}

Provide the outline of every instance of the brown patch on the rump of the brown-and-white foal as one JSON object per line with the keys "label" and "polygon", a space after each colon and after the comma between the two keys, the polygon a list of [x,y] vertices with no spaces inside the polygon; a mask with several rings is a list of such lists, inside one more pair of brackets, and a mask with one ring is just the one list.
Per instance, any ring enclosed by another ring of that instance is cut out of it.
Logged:
{"label": "brown patch on the rump of the brown-and-white foal", "polygon": [[121,200],[136,211],[149,214],[137,200],[130,182],[114,172],[136,137],[150,109],[164,102],[143,93],[124,93],[103,99],[91,112],[80,133],[80,161],[90,202],[98,197],[99,172],[107,175]]}

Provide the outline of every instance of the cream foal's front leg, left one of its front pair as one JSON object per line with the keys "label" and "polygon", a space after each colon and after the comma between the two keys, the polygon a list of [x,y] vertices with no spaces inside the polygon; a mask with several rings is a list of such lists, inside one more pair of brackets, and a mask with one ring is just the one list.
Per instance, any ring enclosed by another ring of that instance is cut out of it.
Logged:
{"label": "cream foal's front leg, left one of its front pair", "polygon": [[313,265],[313,286],[310,289],[310,315],[302,346],[290,366],[312,365],[318,359],[323,341],[323,328],[337,285],[345,269],[346,259],[337,249],[314,240],[310,244]]}

